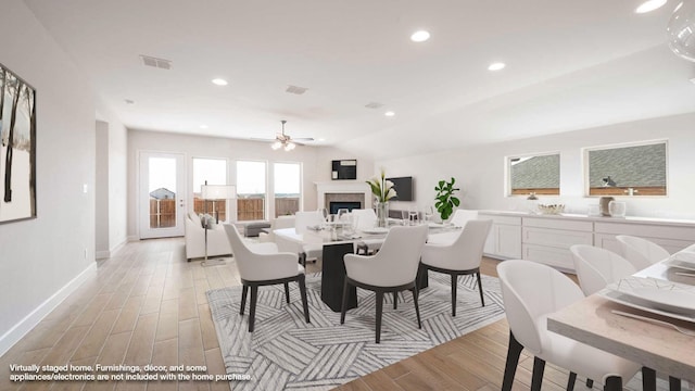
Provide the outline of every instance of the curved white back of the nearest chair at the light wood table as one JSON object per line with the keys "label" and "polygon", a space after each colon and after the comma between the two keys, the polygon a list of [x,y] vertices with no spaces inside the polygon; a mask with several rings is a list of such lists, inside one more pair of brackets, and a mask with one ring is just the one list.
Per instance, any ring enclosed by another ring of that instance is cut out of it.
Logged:
{"label": "curved white back of the nearest chair at the light wood table", "polygon": [[539,329],[546,327],[544,315],[583,299],[584,294],[569,277],[531,261],[504,261],[497,265],[497,275],[509,329],[525,348],[542,354]]}

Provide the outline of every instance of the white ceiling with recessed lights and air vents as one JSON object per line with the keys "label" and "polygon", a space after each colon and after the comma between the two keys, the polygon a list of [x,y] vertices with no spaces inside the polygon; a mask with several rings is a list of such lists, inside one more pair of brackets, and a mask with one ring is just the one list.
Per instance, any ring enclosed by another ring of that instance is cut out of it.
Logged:
{"label": "white ceiling with recessed lights and air vents", "polygon": [[695,112],[695,64],[666,46],[673,0],[24,1],[136,129],[273,138],[287,119],[387,159]]}

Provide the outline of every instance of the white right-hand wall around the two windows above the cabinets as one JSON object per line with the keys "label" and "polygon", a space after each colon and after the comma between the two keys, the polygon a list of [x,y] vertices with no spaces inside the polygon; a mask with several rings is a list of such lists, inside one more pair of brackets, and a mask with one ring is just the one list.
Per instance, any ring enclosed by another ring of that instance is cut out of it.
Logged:
{"label": "white right-hand wall around the two windows above the cabinets", "polygon": [[[560,153],[560,195],[540,197],[542,203],[565,203],[566,212],[584,214],[597,198],[583,195],[582,148],[620,142],[668,139],[668,197],[620,197],[629,216],[695,219],[695,114],[623,123],[558,135],[450,150],[384,162],[389,176],[413,176],[416,201],[401,203],[424,207],[433,204],[434,186],[455,177],[462,188],[463,207],[523,210],[523,197],[505,197],[505,157],[541,152]],[[442,141],[445,142],[445,141]],[[395,206],[392,206],[395,207]],[[400,209],[400,207],[395,207]]]}

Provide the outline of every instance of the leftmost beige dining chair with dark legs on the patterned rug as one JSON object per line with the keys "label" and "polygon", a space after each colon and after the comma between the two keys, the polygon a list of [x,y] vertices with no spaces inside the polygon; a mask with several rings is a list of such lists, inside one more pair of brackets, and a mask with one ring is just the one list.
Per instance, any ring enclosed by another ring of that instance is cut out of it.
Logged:
{"label": "leftmost beige dining chair with dark legs on the patterned rug", "polygon": [[296,263],[298,254],[278,252],[275,243],[257,243],[252,248],[241,239],[241,235],[231,224],[225,225],[231,253],[239,269],[241,278],[241,305],[239,314],[243,315],[247,305],[247,295],[251,289],[251,305],[249,308],[249,332],[253,332],[256,315],[256,302],[258,299],[258,287],[269,285],[285,285],[285,298],[290,303],[289,282],[296,281],[300,286],[300,295],[304,308],[306,323],[308,317],[308,303],[306,301],[306,285],[304,267]]}

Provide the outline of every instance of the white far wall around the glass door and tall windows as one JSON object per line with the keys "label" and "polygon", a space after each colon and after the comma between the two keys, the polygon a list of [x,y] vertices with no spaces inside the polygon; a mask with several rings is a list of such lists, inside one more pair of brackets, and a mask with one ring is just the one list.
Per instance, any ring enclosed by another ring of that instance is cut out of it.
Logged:
{"label": "white far wall around the glass door and tall windows", "polygon": [[[330,180],[330,161],[337,159],[356,159],[346,152],[333,148],[298,147],[291,152],[274,151],[269,143],[235,140],[215,137],[188,136],[159,131],[129,130],[128,144],[128,237],[139,238],[137,191],[139,182],[138,155],[140,151],[181,152],[186,155],[187,182],[192,179],[193,157],[225,157],[228,159],[230,182],[236,181],[236,163],[238,160],[274,162],[300,162],[303,167],[302,192],[304,210],[316,209],[316,181]],[[268,166],[270,167],[270,166]],[[358,160],[359,177],[371,175],[370,161]],[[271,169],[268,171],[268,181],[273,182]],[[271,186],[271,185],[269,185]],[[268,188],[267,191],[270,191]],[[189,189],[187,200],[192,200],[192,189]],[[188,210],[192,204],[188,203]]]}

